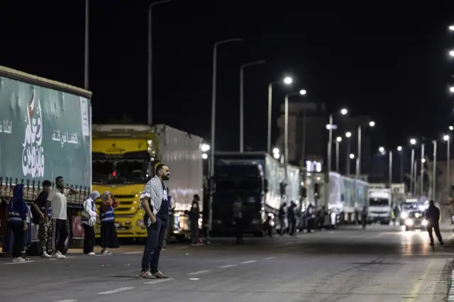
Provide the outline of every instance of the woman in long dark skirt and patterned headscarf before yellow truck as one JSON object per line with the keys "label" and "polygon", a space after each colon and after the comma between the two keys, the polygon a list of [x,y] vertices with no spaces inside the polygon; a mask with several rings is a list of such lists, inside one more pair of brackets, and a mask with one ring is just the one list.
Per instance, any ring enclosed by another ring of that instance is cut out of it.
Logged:
{"label": "woman in long dark skirt and patterned headscarf before yellow truck", "polygon": [[115,228],[114,208],[118,206],[114,195],[109,191],[105,191],[101,196],[102,203],[99,207],[101,214],[101,254],[109,254],[109,249],[120,247]]}

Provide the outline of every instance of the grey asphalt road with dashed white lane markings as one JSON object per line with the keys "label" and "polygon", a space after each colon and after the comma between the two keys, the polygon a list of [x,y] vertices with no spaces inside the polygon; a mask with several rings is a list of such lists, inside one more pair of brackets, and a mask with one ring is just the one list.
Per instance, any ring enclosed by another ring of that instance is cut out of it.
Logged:
{"label": "grey asphalt road with dashed white lane markings", "polygon": [[[451,233],[443,233],[445,241]],[[138,279],[140,246],[68,259],[0,258],[0,301],[443,301],[454,246],[432,252],[426,233],[400,227],[345,227],[296,237],[170,245],[160,269]]]}

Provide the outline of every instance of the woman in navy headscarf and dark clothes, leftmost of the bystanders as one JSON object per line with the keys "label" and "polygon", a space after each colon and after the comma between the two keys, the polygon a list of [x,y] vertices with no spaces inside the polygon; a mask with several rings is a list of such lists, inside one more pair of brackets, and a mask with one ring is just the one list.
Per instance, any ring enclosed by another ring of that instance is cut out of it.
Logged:
{"label": "woman in navy headscarf and dark clothes, leftmost of the bystanders", "polygon": [[13,262],[25,262],[21,257],[23,239],[28,231],[28,206],[23,200],[23,184],[14,186],[13,198],[8,205],[8,228],[13,233]]}

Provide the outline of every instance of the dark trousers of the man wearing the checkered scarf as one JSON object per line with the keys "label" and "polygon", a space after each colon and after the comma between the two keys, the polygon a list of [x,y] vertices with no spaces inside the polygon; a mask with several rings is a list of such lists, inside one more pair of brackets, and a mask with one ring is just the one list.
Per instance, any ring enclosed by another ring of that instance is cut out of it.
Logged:
{"label": "dark trousers of the man wearing the checkered scarf", "polygon": [[[148,219],[144,219],[147,221]],[[162,220],[157,217],[156,222],[147,226],[147,240],[145,242],[145,250],[142,257],[142,272],[150,271],[152,274],[159,271],[159,256],[162,250],[162,244],[165,240],[167,231],[167,220]]]}

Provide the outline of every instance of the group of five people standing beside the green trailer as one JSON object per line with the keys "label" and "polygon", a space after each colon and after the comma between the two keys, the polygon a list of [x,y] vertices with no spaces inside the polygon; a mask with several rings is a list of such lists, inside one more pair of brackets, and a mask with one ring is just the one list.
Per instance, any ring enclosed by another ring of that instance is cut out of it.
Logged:
{"label": "group of five people standing beside the green trailer", "polygon": [[[26,240],[30,220],[39,225],[38,239],[43,258],[65,258],[65,242],[68,237],[67,225],[67,197],[77,194],[75,189],[65,186],[63,177],[55,179],[55,189],[51,189],[49,180],[43,181],[43,190],[38,198],[29,207],[23,198],[25,186],[16,184],[13,189],[13,197],[7,207],[7,230],[9,245],[12,245],[13,262],[25,262],[22,257],[23,247]],[[96,213],[95,201],[101,198],[99,207],[100,217]],[[108,248],[116,248],[118,238],[114,224],[114,208],[118,206],[114,196],[106,191],[99,194],[93,191],[84,201],[82,211],[82,225],[84,228],[84,254],[94,255],[94,225],[101,223],[101,247],[102,253],[107,254]],[[5,248],[7,249],[5,251]],[[4,247],[4,252],[9,252],[9,247]]]}

